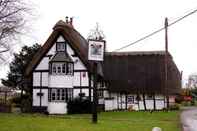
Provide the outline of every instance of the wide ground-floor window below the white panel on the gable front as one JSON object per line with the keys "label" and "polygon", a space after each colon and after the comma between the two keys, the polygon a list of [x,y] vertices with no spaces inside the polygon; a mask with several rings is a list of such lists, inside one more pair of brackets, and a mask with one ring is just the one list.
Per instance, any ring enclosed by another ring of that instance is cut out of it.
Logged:
{"label": "wide ground-floor window below the white panel on the gable front", "polygon": [[73,99],[73,89],[71,88],[50,88],[50,102],[68,102]]}

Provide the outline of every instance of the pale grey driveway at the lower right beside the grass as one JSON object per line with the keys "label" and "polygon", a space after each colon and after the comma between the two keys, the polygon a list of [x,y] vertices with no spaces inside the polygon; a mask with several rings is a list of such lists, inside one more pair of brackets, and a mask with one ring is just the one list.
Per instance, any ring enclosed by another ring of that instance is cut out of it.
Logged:
{"label": "pale grey driveway at the lower right beside the grass", "polygon": [[183,131],[197,131],[197,107],[186,107],[181,113]]}

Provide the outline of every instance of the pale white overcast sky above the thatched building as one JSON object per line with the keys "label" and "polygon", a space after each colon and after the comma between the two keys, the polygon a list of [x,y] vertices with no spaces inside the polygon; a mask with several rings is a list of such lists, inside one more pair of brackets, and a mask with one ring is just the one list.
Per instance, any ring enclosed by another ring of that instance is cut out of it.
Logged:
{"label": "pale white overcast sky above the thatched building", "polygon": [[[36,19],[32,31],[22,41],[43,44],[55,23],[74,17],[74,27],[85,38],[99,23],[107,50],[129,44],[197,9],[196,0],[34,0]],[[164,50],[164,32],[122,51]],[[184,77],[197,72],[197,13],[169,28],[169,51]],[[5,76],[1,73],[0,77]]]}

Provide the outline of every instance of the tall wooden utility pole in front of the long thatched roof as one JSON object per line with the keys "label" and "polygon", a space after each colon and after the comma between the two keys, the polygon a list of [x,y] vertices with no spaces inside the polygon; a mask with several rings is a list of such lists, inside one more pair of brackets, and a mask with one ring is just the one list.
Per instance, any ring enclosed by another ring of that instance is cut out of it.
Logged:
{"label": "tall wooden utility pole in front of the long thatched roof", "polygon": [[168,18],[165,18],[165,96],[167,102],[167,109],[169,108],[168,95]]}

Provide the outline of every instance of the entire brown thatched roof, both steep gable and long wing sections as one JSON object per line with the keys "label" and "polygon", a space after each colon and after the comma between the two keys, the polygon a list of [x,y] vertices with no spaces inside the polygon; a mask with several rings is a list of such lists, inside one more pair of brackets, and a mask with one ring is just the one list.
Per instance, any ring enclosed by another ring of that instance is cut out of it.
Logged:
{"label": "entire brown thatched roof, both steep gable and long wing sections", "polygon": [[[26,68],[26,76],[31,76],[33,70],[56,42],[59,35],[65,38],[88,71],[92,72],[92,63],[88,61],[87,40],[73,26],[59,21],[54,26],[48,40]],[[165,89],[164,56],[164,51],[108,52],[105,54],[103,68],[101,65],[98,66],[100,67],[99,73],[103,76],[103,72],[111,92],[164,93],[168,89],[169,93],[178,93],[181,87],[181,76],[170,54],[168,57],[168,85]]]}

